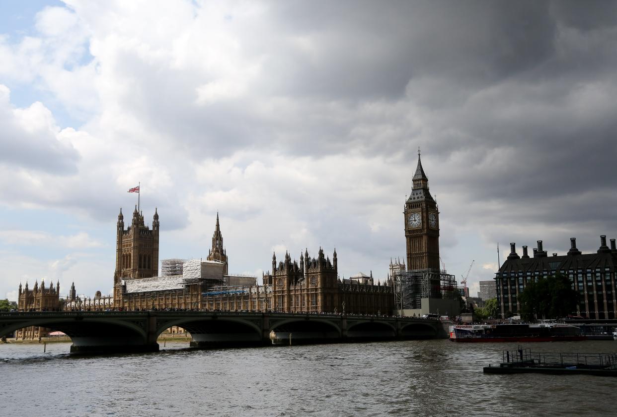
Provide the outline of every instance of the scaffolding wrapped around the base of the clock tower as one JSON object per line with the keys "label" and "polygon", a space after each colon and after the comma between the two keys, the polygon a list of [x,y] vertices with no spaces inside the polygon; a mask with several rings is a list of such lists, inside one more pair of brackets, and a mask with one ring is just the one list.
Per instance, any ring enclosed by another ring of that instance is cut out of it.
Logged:
{"label": "scaffolding wrapped around the base of the clock tower", "polygon": [[394,303],[398,310],[421,309],[423,298],[457,297],[457,280],[445,270],[417,269],[394,275]]}

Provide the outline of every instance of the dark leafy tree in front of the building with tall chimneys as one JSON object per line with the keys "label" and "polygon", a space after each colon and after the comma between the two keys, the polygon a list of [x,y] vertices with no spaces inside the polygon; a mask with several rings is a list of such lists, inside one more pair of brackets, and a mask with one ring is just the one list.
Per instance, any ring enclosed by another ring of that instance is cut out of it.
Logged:
{"label": "dark leafy tree in front of the building with tall chimneys", "polygon": [[578,291],[572,289],[570,280],[561,273],[548,278],[529,281],[520,294],[521,318],[528,322],[538,318],[565,317],[578,303]]}

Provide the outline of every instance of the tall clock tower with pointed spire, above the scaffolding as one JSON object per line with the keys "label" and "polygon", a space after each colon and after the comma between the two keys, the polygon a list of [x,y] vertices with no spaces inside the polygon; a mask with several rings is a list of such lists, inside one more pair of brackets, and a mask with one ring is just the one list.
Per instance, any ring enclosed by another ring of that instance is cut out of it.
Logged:
{"label": "tall clock tower with pointed spire, above the scaffolding", "polygon": [[404,214],[407,269],[439,271],[439,211],[428,190],[428,178],[422,169],[419,149],[418,168]]}

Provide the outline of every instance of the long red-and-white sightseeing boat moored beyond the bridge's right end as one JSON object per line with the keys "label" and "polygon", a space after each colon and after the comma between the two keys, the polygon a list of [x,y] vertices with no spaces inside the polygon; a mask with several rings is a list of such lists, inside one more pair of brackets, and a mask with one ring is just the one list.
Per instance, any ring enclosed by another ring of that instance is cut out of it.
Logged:
{"label": "long red-and-white sightseeing boat moored beyond the bridge's right end", "polygon": [[562,323],[451,325],[453,342],[556,342],[581,341],[587,336],[577,326]]}

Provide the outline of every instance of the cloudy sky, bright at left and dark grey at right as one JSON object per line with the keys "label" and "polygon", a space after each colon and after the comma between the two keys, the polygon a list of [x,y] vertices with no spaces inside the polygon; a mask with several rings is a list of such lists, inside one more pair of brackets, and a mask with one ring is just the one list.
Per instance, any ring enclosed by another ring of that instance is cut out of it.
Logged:
{"label": "cloudy sky, bright at left and dark grey at right", "polygon": [[[0,0],[0,298],[110,293],[115,225],[230,273],[405,257],[418,147],[445,268],[616,238],[617,3]],[[500,247],[500,258],[497,244]]]}

